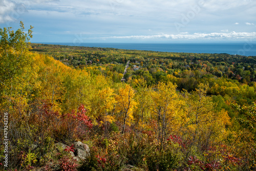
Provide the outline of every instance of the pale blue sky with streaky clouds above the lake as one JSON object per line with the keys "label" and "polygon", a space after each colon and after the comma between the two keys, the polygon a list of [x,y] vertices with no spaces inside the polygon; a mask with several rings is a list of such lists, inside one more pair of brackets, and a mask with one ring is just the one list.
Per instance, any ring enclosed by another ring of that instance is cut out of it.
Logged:
{"label": "pale blue sky with streaky clouds above the lake", "polygon": [[31,42],[256,41],[255,0],[0,0],[0,27]]}

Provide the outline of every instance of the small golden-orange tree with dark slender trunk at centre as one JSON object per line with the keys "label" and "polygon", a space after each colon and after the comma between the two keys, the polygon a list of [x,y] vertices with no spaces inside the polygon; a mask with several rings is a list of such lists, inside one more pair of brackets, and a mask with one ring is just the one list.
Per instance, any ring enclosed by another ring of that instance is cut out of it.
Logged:
{"label": "small golden-orange tree with dark slender trunk at centre", "polygon": [[122,121],[122,134],[124,133],[126,122],[131,125],[134,120],[133,112],[136,109],[135,91],[128,84],[124,88],[118,90],[116,96],[117,111],[119,112],[119,119]]}

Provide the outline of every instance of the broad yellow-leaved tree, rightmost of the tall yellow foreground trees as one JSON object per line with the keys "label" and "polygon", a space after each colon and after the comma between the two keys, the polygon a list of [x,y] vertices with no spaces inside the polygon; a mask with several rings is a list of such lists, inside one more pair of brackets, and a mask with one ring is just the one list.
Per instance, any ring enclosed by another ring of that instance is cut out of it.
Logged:
{"label": "broad yellow-leaved tree, rightmost of the tall yellow foreground trees", "polygon": [[220,139],[225,132],[225,125],[229,124],[227,112],[215,112],[212,98],[206,96],[208,86],[200,84],[196,91],[185,93],[187,136],[198,149],[206,149],[210,143]]}

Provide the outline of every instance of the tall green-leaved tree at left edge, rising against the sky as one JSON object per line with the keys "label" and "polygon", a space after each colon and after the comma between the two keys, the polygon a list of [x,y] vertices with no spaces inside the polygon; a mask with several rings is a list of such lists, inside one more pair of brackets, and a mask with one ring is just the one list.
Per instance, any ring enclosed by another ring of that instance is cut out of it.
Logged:
{"label": "tall green-leaved tree at left edge, rising against the sky", "polygon": [[11,27],[0,28],[0,92],[4,97],[2,100],[8,101],[5,106],[9,106],[11,99],[26,87],[24,79],[29,79],[27,73],[32,63],[29,55],[32,28],[30,26],[28,34],[25,34],[22,22],[20,29],[15,32]]}

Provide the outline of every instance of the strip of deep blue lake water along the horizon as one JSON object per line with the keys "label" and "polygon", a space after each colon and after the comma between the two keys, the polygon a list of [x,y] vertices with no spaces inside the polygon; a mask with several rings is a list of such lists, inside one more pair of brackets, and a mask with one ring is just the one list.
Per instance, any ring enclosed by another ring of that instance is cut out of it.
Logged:
{"label": "strip of deep blue lake water along the horizon", "polygon": [[256,42],[224,43],[45,43],[54,45],[147,50],[184,53],[227,53],[231,55],[256,56]]}

